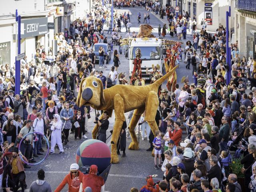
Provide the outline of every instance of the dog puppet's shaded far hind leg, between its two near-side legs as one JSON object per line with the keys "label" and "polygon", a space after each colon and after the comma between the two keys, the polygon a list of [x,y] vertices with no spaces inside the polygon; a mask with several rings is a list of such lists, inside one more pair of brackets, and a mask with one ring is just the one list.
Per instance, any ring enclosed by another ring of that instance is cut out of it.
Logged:
{"label": "dog puppet's shaded far hind leg, between its two near-side legs", "polygon": [[132,138],[132,142],[130,143],[128,149],[130,150],[138,150],[139,149],[139,143],[136,137],[136,134],[134,132],[134,129],[138,123],[138,121],[140,120],[140,116],[142,113],[144,113],[145,111],[145,107],[142,108],[138,108],[136,110],[134,110],[133,115],[132,115],[132,119],[130,121],[129,124],[129,132],[130,132],[130,136]]}

